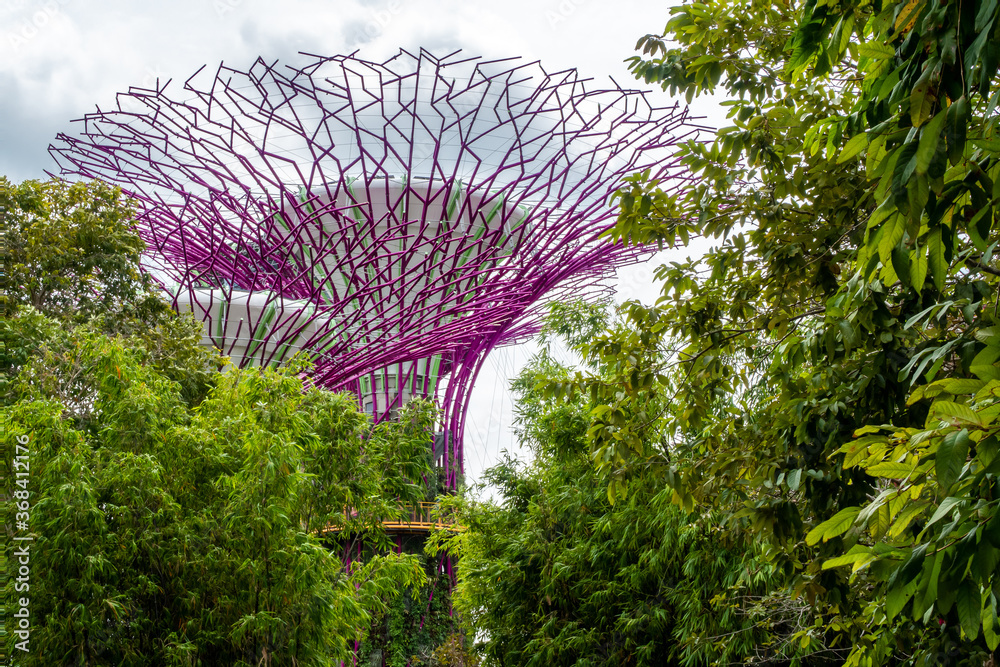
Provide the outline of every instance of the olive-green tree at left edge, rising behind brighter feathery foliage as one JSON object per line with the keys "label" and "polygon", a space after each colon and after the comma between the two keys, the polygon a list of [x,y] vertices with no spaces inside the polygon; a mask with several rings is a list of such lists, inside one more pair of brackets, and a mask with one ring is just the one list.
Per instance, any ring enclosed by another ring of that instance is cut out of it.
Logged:
{"label": "olive-green tree at left edge, rising behind brighter feathery foliage", "polygon": [[[0,177],[4,401],[16,400],[13,379],[56,328],[85,322],[109,334],[141,335],[137,349],[148,363],[179,382],[186,399],[204,398],[221,360],[196,344],[201,327],[178,317],[140,271],[145,246],[132,229],[133,213],[119,189],[100,181],[14,185]],[[14,326],[10,318],[28,306],[35,314]]]}

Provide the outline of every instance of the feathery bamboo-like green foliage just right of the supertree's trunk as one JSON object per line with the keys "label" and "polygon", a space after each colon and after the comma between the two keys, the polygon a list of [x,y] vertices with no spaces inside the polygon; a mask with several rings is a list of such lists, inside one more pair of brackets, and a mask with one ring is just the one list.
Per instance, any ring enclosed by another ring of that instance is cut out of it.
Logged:
{"label": "feathery bamboo-like green foliage just right of the supertree's trunk", "polygon": [[[594,313],[556,307],[566,333]],[[577,338],[580,336],[576,332]],[[595,372],[598,372],[596,369]],[[591,463],[586,400],[543,390],[568,369],[546,355],[515,382],[528,465],[487,471],[494,501],[459,501],[465,531],[456,601],[487,639],[487,664],[712,665],[798,655],[804,603],[775,593],[777,573],[747,535],[690,514],[655,476],[612,504]]]}

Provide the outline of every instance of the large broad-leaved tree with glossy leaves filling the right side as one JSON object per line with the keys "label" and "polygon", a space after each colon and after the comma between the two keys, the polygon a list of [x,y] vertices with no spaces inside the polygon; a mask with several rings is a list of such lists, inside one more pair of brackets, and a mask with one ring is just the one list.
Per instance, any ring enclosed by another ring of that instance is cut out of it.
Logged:
{"label": "large broad-leaved tree with glossy leaves filling the right side", "polygon": [[[633,71],[733,125],[638,175],[616,238],[714,240],[584,350],[613,498],[656,475],[772,544],[849,664],[1000,644],[1000,5],[695,2]],[[674,349],[676,348],[676,349]],[[709,511],[706,509],[706,511]],[[849,654],[849,655],[848,655]]]}

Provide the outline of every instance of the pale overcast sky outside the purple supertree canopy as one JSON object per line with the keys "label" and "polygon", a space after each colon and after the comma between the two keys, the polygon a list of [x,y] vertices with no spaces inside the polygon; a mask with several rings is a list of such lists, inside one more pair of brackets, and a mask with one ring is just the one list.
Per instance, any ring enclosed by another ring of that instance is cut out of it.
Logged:
{"label": "pale overcast sky outside the purple supertree canopy", "polygon": [[[380,60],[400,48],[436,55],[577,68],[597,82],[640,87],[624,60],[636,40],[660,32],[669,3],[652,0],[0,0],[0,175],[15,182],[54,169],[47,148],[70,121],[111,108],[130,85],[173,86],[202,65],[247,68],[258,56],[359,51]],[[665,93],[651,95],[661,105]],[[619,297],[655,296],[652,266],[623,273]],[[509,437],[507,378],[530,348],[495,354],[473,396],[466,466],[477,477]]]}

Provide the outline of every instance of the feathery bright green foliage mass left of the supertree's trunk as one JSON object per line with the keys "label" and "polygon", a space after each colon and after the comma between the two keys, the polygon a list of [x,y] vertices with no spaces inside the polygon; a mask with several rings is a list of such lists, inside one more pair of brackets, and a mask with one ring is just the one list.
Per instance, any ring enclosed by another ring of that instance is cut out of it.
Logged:
{"label": "feathery bright green foliage mass left of the supertree's trunk", "polygon": [[[102,186],[81,187],[81,210],[114,206]],[[64,188],[15,190],[55,192],[58,202]],[[51,224],[141,248],[124,213]],[[91,260],[46,257],[62,253],[38,243],[46,229],[15,230],[36,248],[36,282],[81,291],[14,298],[0,321],[5,465],[17,439],[28,451],[17,452],[17,481],[6,474],[28,524],[9,517],[8,562],[10,538],[34,538],[30,587],[5,582],[7,600],[29,600],[30,650],[13,651],[16,664],[349,660],[364,630],[425,575],[418,558],[393,554],[347,572],[321,530],[388,547],[381,521],[424,498],[433,408],[413,402],[398,422],[372,427],[353,397],[306,390],[295,365],[218,373],[200,325],[129,282],[136,255],[99,262],[103,285],[134,290],[88,300],[93,284],[79,279]],[[92,310],[71,307],[81,303]]]}

